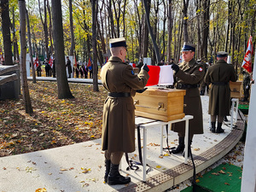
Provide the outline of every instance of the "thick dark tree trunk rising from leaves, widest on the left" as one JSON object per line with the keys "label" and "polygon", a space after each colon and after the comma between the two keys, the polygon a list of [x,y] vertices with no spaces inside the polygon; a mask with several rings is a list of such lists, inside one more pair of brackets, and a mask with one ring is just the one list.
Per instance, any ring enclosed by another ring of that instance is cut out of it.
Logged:
{"label": "thick dark tree trunk rising from leaves, widest on the left", "polygon": [[63,41],[62,13],[60,8],[61,0],[51,1],[58,98],[67,99],[73,98],[73,95],[69,89],[69,85],[67,82]]}

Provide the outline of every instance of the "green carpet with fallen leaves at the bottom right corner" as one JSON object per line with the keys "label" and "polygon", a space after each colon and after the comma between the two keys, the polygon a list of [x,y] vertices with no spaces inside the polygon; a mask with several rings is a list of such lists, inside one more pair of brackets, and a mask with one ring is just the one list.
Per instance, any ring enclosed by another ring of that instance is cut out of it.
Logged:
{"label": "green carpet with fallen leaves at the bottom right corner", "polygon": [[[240,192],[241,191],[241,167],[229,164],[220,165],[212,171],[197,178],[196,192]],[[192,192],[193,188],[188,187],[182,192]]]}

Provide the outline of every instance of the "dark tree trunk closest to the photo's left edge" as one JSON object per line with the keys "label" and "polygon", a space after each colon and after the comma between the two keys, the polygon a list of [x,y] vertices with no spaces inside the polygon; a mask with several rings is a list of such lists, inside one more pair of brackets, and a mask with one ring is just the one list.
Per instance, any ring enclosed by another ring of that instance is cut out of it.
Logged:
{"label": "dark tree trunk closest to the photo's left edge", "polygon": [[[14,65],[12,59],[12,42],[10,38],[9,0],[1,0],[1,17],[3,30],[4,65]],[[26,24],[25,24],[26,25]]]}

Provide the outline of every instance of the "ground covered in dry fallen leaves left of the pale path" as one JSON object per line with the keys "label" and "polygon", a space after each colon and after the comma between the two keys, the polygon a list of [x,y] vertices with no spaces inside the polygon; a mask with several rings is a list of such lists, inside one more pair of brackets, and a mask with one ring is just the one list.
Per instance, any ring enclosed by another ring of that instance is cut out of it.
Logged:
{"label": "ground covered in dry fallen leaves left of the pale path", "polygon": [[74,99],[58,99],[55,82],[28,82],[32,116],[19,100],[0,101],[0,156],[23,154],[101,137],[107,92],[69,84]]}

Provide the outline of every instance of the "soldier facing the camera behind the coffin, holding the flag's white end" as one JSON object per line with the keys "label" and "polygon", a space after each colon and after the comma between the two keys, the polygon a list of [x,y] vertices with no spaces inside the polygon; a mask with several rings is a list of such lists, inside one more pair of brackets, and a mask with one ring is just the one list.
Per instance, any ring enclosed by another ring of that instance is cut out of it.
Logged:
{"label": "soldier facing the camera behind the coffin, holding the flag's white end", "polygon": [[[184,96],[184,113],[194,116],[194,119],[189,120],[189,145],[192,143],[194,134],[203,133],[203,119],[201,108],[201,97],[199,93],[200,82],[205,75],[205,66],[197,63],[194,59],[195,44],[185,42],[182,48],[183,62],[172,64],[172,69],[175,71],[176,89],[186,90]],[[183,153],[185,148],[185,123],[179,122],[172,125],[172,131],[177,132],[178,145],[172,150],[172,154]],[[189,147],[190,153],[190,147]]]}

